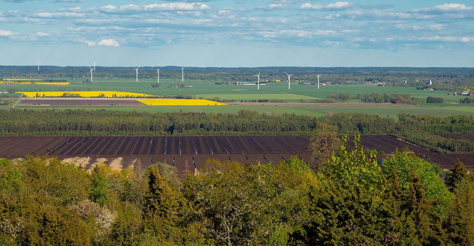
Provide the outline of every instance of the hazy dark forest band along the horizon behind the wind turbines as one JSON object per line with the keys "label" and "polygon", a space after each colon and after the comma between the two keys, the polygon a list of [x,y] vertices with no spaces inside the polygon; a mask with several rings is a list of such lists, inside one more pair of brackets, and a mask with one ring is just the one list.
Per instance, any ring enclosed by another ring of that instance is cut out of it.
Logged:
{"label": "hazy dark forest band along the horizon behind the wind turbines", "polygon": [[[100,78],[135,78],[133,67],[97,66],[94,73]],[[181,67],[164,66],[160,68],[160,77],[181,79]],[[421,86],[432,80],[434,83],[474,85],[474,68],[439,67],[185,67],[186,79],[254,81],[253,75],[261,71],[262,80],[286,80],[285,72],[294,73],[292,79],[316,81],[316,73],[322,74],[321,81],[331,83],[400,83]],[[140,67],[141,78],[155,78],[157,67]],[[61,77],[87,78],[88,66],[0,66],[0,78],[19,77]],[[399,85],[402,86],[402,85]]]}

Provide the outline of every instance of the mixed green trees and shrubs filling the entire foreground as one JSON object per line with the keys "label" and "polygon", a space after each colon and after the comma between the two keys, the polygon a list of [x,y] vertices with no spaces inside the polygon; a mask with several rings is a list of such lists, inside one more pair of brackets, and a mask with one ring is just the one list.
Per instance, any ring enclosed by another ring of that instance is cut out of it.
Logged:
{"label": "mixed green trees and shrubs filling the entire foreground", "polygon": [[462,163],[441,175],[398,152],[380,166],[357,136],[352,150],[341,143],[316,169],[296,156],[209,159],[184,174],[164,163],[88,173],[50,157],[0,159],[0,244],[474,243],[474,181]]}

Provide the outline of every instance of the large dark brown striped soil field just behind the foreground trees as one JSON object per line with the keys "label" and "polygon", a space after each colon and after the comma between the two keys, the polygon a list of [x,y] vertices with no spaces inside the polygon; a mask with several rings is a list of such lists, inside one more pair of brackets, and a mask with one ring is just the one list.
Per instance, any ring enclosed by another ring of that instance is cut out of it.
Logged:
{"label": "large dark brown striped soil field just behind the foreground trees", "polygon": [[[46,136],[0,137],[0,157],[52,155],[90,170],[103,162],[113,168],[147,167],[165,162],[179,171],[196,171],[208,158],[241,163],[276,163],[298,155],[310,164],[316,160],[307,149],[309,136]],[[353,137],[349,138],[352,143]],[[442,168],[460,159],[474,167],[473,154],[437,154],[388,135],[362,135],[366,149],[376,149],[379,160],[408,147],[416,155]]]}

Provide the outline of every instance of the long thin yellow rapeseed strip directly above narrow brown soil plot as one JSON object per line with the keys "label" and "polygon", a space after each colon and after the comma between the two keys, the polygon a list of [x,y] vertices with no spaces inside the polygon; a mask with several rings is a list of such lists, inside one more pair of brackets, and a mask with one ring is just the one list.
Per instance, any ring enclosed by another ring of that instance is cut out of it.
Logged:
{"label": "long thin yellow rapeseed strip directly above narrow brown soil plot", "polygon": [[156,95],[134,93],[134,92],[113,92],[113,91],[94,91],[94,92],[16,92],[23,93],[26,97],[60,97],[64,94],[70,94],[71,97],[77,95],[81,97],[156,97]]}

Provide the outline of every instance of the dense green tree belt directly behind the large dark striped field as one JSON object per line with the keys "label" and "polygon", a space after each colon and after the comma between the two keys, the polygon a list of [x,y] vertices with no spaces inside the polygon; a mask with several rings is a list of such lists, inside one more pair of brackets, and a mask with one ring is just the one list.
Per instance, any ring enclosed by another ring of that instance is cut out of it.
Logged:
{"label": "dense green tree belt directly behind the large dark striped field", "polygon": [[334,114],[312,117],[237,114],[147,113],[111,110],[0,110],[0,135],[242,135],[311,134],[329,124],[338,134],[391,134],[438,153],[473,152],[474,142],[449,139],[440,133],[474,134],[472,116],[390,117]]}

